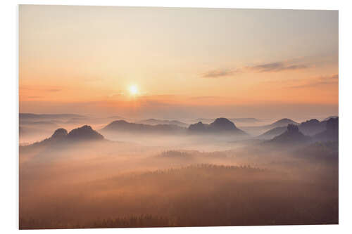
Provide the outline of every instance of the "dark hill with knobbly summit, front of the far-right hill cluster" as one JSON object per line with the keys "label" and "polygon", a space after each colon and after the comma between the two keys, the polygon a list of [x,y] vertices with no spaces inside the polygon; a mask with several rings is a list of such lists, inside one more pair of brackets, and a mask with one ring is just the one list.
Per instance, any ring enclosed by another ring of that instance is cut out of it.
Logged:
{"label": "dark hill with knobbly summit, front of the far-right hill cluster", "polygon": [[267,142],[278,145],[295,145],[299,143],[308,143],[309,141],[310,137],[303,135],[301,131],[298,130],[298,126],[288,124],[287,130],[283,134],[275,136],[272,140]]}

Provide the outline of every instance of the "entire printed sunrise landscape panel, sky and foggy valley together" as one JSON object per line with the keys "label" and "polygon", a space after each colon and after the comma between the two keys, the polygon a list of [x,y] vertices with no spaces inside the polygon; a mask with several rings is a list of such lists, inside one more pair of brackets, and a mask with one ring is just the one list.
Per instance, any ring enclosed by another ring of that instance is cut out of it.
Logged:
{"label": "entire printed sunrise landscape panel, sky and foggy valley together", "polygon": [[338,18],[20,5],[20,229],[338,224]]}

